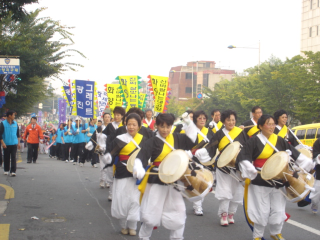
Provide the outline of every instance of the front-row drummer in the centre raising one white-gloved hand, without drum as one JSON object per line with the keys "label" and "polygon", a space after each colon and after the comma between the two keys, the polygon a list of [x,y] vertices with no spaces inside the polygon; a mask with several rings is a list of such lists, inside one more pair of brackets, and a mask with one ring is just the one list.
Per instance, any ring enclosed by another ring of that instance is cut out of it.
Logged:
{"label": "front-row drummer in the centre raising one white-gloved hand, without drum", "polygon": [[[191,124],[187,112],[182,114],[182,119],[185,122],[185,134],[170,133],[174,121],[171,114],[160,113],[156,117],[156,136],[148,139],[137,154],[133,165],[133,176],[138,179],[143,178],[149,158],[152,165],[148,171],[157,173],[159,164],[173,149],[187,150],[194,146],[195,125]],[[182,195],[171,185],[161,182],[158,175],[146,174],[145,177],[147,178],[142,182],[147,181],[147,183],[140,206],[142,222],[139,231],[140,240],[148,240],[153,227],[161,223],[170,229],[169,239],[183,239],[186,213]]]}

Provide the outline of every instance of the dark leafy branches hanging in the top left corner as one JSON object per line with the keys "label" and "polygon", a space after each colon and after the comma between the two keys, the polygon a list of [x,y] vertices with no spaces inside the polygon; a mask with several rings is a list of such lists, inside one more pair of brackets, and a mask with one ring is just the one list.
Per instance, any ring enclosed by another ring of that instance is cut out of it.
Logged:
{"label": "dark leafy branches hanging in the top left corner", "polygon": [[38,0],[1,0],[0,22],[8,16],[11,16],[13,21],[21,21],[28,15],[23,6],[31,3],[38,3]]}

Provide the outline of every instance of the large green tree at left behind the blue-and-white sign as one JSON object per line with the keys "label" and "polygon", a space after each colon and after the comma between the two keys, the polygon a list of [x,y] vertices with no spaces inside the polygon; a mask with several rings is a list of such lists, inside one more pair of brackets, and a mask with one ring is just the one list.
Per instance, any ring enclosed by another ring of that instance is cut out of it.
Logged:
{"label": "large green tree at left behind the blue-and-white sign", "polygon": [[[73,44],[69,29],[73,27],[61,25],[50,17],[37,18],[44,9],[30,12],[20,22],[13,22],[9,17],[0,22],[0,55],[19,56],[18,77],[21,79],[8,84],[5,75],[0,75],[0,91],[7,92],[4,107],[15,109],[18,115],[30,111],[35,103],[51,94],[43,82],[45,78],[62,80],[59,74],[83,67],[78,63],[64,61],[73,53],[85,58],[81,52],[69,48]],[[53,36],[58,40],[54,40]],[[16,91],[16,94],[9,89]]]}

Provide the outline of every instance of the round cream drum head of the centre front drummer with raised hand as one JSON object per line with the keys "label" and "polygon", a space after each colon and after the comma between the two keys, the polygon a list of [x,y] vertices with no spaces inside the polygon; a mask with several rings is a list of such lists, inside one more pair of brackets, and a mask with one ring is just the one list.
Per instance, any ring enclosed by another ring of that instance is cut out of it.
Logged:
{"label": "round cream drum head of the centre front drummer with raised hand", "polygon": [[[172,183],[181,178],[188,168],[189,157],[184,150],[177,149],[167,154],[159,165],[159,178],[164,183]],[[165,175],[170,174],[170,175]]]}

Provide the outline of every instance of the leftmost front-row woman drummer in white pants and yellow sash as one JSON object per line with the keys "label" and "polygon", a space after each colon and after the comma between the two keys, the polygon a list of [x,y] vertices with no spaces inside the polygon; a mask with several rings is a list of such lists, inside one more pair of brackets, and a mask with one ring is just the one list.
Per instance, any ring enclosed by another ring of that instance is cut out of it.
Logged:
{"label": "leftmost front-row woman drummer in white pants and yellow sash", "polygon": [[[118,161],[114,162],[116,170],[112,188],[111,214],[120,220],[121,233],[124,235],[129,233],[131,236],[136,235],[136,223],[139,221],[140,191],[132,173],[126,169],[126,163],[129,156],[147,139],[138,133],[140,127],[140,116],[130,113],[126,117],[127,132],[117,135],[108,146],[109,150],[116,149],[112,152],[112,156],[118,155]],[[108,155],[107,163],[111,162],[110,158],[111,156]]]}

